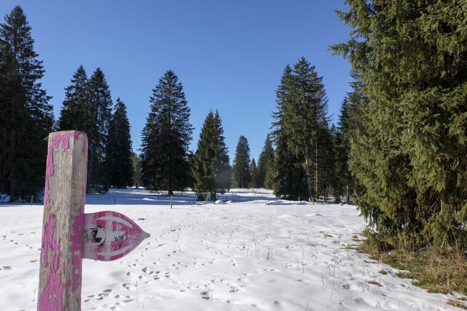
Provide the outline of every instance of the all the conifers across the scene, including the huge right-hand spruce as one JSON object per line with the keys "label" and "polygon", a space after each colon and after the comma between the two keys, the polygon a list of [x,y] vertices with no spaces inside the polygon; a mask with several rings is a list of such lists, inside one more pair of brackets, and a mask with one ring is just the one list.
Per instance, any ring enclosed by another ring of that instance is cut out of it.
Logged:
{"label": "all the conifers across the scene, including the huge right-hand spruce", "polygon": [[15,7],[0,24],[0,194],[15,201],[43,191],[43,138],[78,130],[88,136],[87,193],[138,184],[216,200],[231,187],[264,187],[285,200],[352,200],[380,234],[465,247],[467,4],[445,2],[347,0],[349,10],[336,13],[353,30],[330,47],[352,65],[338,122],[323,77],[301,57],[277,77],[262,152],[251,158],[245,133],[232,162],[217,110],[206,111],[197,150],[189,150],[191,109],[172,70],[149,97],[138,154],[127,106],[113,102],[100,68],[71,75],[56,118],[31,28]]}

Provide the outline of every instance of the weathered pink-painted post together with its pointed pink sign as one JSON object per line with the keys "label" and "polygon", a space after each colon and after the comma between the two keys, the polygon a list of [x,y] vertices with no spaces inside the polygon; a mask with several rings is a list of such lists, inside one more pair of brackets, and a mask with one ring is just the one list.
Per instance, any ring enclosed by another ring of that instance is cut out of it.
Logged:
{"label": "weathered pink-painted post together with its pointed pink sign", "polygon": [[37,310],[80,311],[83,258],[118,259],[150,235],[120,213],[84,213],[85,133],[50,133],[48,149]]}

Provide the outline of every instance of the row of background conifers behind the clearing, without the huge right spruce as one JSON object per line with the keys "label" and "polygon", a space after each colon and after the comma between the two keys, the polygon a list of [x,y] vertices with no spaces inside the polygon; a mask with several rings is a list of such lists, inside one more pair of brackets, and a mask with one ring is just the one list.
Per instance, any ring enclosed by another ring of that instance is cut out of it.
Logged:
{"label": "row of background conifers behind the clearing, without the huge right spruce", "polygon": [[113,103],[103,71],[97,68],[88,76],[83,66],[78,67],[65,88],[60,116],[55,120],[48,104],[51,97],[37,82],[44,69],[33,50],[21,7],[15,7],[5,21],[0,25],[0,117],[4,121],[0,193],[10,195],[10,200],[42,190],[47,155],[43,138],[57,130],[87,134],[87,193],[138,184],[170,195],[191,188],[199,200],[216,200],[230,187],[266,187],[290,200],[340,196],[333,173],[335,133],[328,128],[322,78],[303,58],[293,69],[287,66],[284,70],[276,91],[274,130],[267,135],[257,162],[251,159],[248,140],[241,135],[230,165],[217,110],[207,114],[197,150],[189,150],[191,110],[182,83],[171,70],[159,79],[149,97],[151,111],[137,155],[127,107],[120,98]]}

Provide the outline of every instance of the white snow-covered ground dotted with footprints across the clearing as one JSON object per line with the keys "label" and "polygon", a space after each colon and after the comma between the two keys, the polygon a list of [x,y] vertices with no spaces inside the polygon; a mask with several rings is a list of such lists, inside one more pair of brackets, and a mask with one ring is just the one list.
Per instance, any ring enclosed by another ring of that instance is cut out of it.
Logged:
{"label": "white snow-covered ground dotted with footprints across the clearing", "polygon": [[[460,310],[345,248],[364,228],[354,206],[264,189],[233,189],[219,196],[226,204],[194,199],[179,193],[170,209],[169,196],[143,189],[87,196],[86,213],[126,214],[151,237],[114,262],[83,260],[82,310]],[[2,311],[36,310],[42,212],[0,204]]]}

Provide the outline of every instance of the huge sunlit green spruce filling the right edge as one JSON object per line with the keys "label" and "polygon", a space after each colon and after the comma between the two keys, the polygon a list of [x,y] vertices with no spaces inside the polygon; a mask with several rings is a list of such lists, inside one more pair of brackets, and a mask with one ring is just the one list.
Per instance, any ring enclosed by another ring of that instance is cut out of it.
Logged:
{"label": "huge sunlit green spruce filling the right edge", "polygon": [[349,11],[338,15],[354,30],[331,48],[350,61],[364,95],[349,96],[349,166],[367,189],[356,203],[380,235],[463,247],[467,3],[345,3]]}

